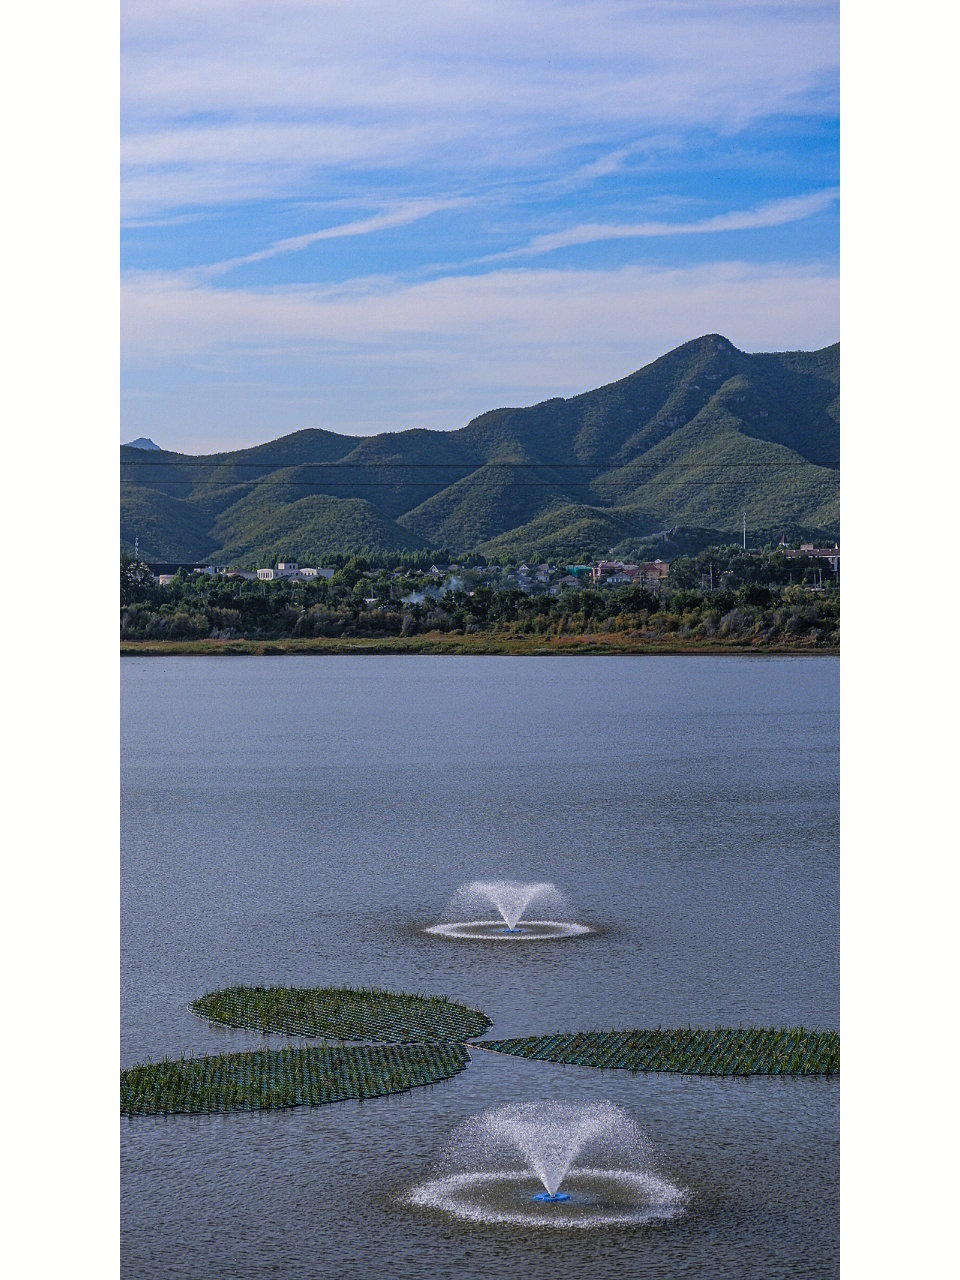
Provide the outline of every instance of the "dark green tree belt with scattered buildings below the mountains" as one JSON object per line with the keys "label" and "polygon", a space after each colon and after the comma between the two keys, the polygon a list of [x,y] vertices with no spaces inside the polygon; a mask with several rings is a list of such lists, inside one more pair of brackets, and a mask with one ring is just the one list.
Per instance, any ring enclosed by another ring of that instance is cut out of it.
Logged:
{"label": "dark green tree belt with scattered buildings below the mountains", "polygon": [[[598,589],[584,580],[558,595],[527,594],[461,566],[462,588],[403,604],[422,590],[425,566],[383,557],[343,559],[332,579],[260,581],[179,573],[160,586],[143,564],[120,562],[120,637],[197,640],[471,635],[595,635],[751,644],[840,643],[840,589],[829,567],[778,550],[748,556],[712,548],[671,563],[657,591]],[[399,568],[399,575],[394,570]]]}

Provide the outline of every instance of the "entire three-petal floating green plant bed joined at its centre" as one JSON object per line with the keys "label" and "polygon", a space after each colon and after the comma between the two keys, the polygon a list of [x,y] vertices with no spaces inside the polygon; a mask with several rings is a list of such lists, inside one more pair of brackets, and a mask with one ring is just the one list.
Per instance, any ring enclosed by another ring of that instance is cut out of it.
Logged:
{"label": "entire three-petal floating green plant bed joined at its centre", "polygon": [[389,1043],[251,1050],[165,1059],[120,1073],[123,1115],[200,1115],[378,1098],[447,1080],[468,1048],[577,1066],[694,1075],[833,1075],[840,1036],[795,1028],[571,1032],[465,1043],[490,1019],[442,996],[349,987],[228,987],[191,1009],[215,1023],[287,1036]]}

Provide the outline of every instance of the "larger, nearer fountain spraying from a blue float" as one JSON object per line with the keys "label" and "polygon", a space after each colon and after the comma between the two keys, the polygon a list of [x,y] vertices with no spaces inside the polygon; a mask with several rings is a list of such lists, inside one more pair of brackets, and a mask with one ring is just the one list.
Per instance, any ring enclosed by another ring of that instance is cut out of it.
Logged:
{"label": "larger, nearer fountain spraying from a blue float", "polygon": [[686,1201],[612,1102],[515,1102],[471,1116],[439,1176],[410,1196],[470,1221],[557,1228],[639,1226],[677,1217]]}

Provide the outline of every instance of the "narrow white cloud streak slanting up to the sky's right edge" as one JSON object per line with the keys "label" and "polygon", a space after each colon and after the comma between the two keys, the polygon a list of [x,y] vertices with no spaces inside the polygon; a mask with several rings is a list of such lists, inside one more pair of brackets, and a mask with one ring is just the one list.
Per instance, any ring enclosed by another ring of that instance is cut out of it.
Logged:
{"label": "narrow white cloud streak slanting up to the sky's right edge", "polygon": [[506,250],[503,253],[488,255],[483,261],[498,261],[511,257],[538,256],[557,248],[573,244],[594,244],[611,239],[643,239],[658,236],[705,236],[714,232],[744,232],[763,227],[783,227],[804,218],[823,212],[840,200],[840,191],[831,187],[826,191],[813,191],[805,196],[790,196],[785,200],[771,200],[756,209],[733,210],[726,214],[713,214],[695,221],[643,221],[643,223],[579,223],[562,232],[536,236],[529,244]]}

